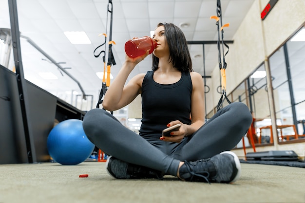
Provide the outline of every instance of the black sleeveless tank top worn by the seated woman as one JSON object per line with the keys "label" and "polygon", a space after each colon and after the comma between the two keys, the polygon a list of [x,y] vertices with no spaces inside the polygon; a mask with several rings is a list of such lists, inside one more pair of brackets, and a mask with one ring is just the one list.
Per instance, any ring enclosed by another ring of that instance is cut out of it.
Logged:
{"label": "black sleeveless tank top worn by the seated woman", "polygon": [[153,71],[148,71],[142,83],[140,136],[159,139],[162,130],[174,120],[191,124],[191,92],[190,72],[182,73],[176,83],[163,85],[153,80]]}

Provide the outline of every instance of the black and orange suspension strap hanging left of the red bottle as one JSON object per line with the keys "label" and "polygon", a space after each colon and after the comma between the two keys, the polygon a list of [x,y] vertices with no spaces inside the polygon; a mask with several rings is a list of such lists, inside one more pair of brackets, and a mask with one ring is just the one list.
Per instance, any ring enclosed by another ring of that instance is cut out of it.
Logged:
{"label": "black and orange suspension strap hanging left of the red bottle", "polygon": [[[109,8],[109,6],[111,5],[111,9]],[[108,63],[107,63],[107,81],[106,81],[106,42],[107,42],[107,34],[102,34],[105,36],[105,41],[103,44],[101,44],[100,46],[98,46],[93,54],[94,56],[97,58],[99,57],[99,55],[103,54],[103,62],[104,62],[104,75],[103,75],[103,82],[102,82],[102,89],[99,93],[99,97],[98,97],[98,102],[96,105],[96,108],[99,108],[99,105],[101,103],[103,103],[103,97],[108,89],[108,87],[110,86],[110,70],[111,70],[111,66],[115,65],[115,60],[114,60],[114,55],[112,53],[112,44],[115,44],[114,41],[112,41],[112,21],[113,21],[113,4],[112,4],[112,0],[109,0],[108,2],[108,6],[107,6],[107,22],[106,22],[106,32],[107,32],[107,28],[108,28],[108,13],[110,13],[110,29],[109,29],[109,47],[108,47]],[[102,47],[103,45],[105,45],[105,50],[101,51],[99,54],[95,54],[95,51]],[[111,112],[113,113],[113,112]]]}

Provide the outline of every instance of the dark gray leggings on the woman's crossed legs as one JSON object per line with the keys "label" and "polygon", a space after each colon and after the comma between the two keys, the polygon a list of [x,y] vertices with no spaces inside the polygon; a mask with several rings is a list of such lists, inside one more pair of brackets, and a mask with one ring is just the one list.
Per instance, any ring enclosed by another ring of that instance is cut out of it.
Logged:
{"label": "dark gray leggings on the woman's crossed legs", "polygon": [[248,107],[234,102],[217,111],[181,143],[147,141],[101,109],[86,113],[83,128],[89,140],[103,152],[127,163],[176,176],[180,161],[206,159],[234,148],[247,133],[251,122]]}

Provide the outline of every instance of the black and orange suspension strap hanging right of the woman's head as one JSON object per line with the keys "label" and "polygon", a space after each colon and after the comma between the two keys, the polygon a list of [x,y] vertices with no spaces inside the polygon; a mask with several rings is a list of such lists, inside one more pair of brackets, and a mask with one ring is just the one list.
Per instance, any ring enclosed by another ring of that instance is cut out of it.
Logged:
{"label": "black and orange suspension strap hanging right of the woman's head", "polygon": [[[219,62],[219,69],[221,73],[221,90],[222,90],[222,95],[219,99],[219,102],[217,104],[217,111],[219,111],[222,107],[222,104],[224,103],[224,99],[227,100],[227,102],[230,104],[231,102],[229,101],[227,97],[227,79],[226,79],[226,68],[227,68],[227,63],[225,61],[225,56],[229,52],[229,46],[224,42],[224,27],[229,27],[229,23],[222,25],[222,14],[221,14],[221,5],[220,5],[220,0],[217,0],[217,9],[216,9],[217,16],[211,16],[210,19],[215,19],[216,20],[216,25],[217,25],[217,32],[218,32],[218,40],[217,40],[217,48],[218,48],[218,62]],[[220,24],[219,24],[220,21]],[[221,32],[221,40],[220,40],[220,32]],[[222,44],[222,48],[220,47],[220,41]],[[227,47],[227,52],[224,53],[224,46]],[[223,55],[223,64],[221,63],[221,55]]]}

